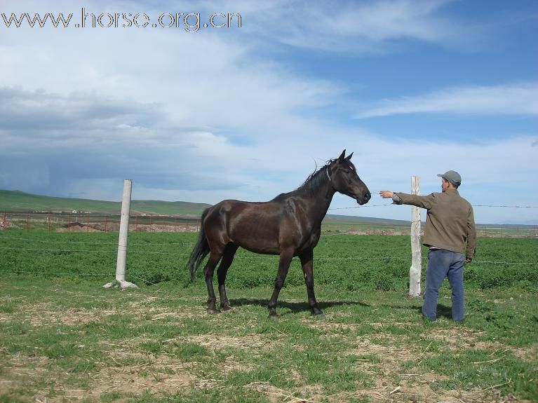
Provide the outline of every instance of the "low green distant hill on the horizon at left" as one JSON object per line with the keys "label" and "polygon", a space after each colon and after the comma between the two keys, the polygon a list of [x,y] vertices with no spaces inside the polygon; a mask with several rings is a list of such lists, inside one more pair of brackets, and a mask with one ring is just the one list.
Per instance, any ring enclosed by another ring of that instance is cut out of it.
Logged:
{"label": "low green distant hill on the horizon at left", "polygon": [[[199,216],[210,205],[182,201],[131,200],[131,214],[163,214]],[[0,211],[11,212],[92,212],[99,214],[120,214],[121,203],[79,198],[58,198],[39,196],[21,191],[0,190]]]}

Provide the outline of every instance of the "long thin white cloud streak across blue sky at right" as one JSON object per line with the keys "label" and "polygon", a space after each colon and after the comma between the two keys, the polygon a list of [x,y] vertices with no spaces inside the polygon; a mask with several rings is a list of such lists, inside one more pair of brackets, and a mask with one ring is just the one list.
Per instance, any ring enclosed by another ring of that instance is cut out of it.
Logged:
{"label": "long thin white cloud streak across blue sky at right", "polygon": [[358,118],[418,113],[538,115],[538,83],[445,88],[375,102]]}

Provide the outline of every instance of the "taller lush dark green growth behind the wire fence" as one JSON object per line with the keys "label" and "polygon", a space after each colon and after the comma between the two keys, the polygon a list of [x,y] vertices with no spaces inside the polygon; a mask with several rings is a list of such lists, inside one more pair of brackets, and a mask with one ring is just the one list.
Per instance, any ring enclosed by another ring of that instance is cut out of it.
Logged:
{"label": "taller lush dark green growth behind the wire fence", "polygon": [[[114,273],[117,233],[0,233],[0,271],[35,273],[39,278],[70,278],[102,282]],[[130,233],[127,273],[133,282],[147,285],[176,281],[189,283],[185,265],[196,233]],[[423,250],[423,275],[426,250]],[[517,287],[538,291],[538,240],[479,238],[476,258],[466,265],[466,287]],[[278,257],[238,250],[227,285],[233,288],[272,287]],[[410,242],[406,236],[327,235],[314,250],[318,287],[401,291],[408,289]],[[111,273],[112,270],[112,273]],[[201,270],[197,278],[202,279]],[[216,276],[215,276],[216,277]],[[285,285],[304,284],[300,263],[293,259]]]}

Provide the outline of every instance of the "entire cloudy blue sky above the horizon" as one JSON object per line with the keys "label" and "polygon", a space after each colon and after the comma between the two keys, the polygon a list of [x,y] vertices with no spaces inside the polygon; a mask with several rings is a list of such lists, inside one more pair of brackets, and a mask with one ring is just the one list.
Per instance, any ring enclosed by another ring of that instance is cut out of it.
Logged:
{"label": "entire cloudy blue sky above the horizon", "polygon": [[537,38],[536,0],[1,0],[0,189],[264,201],[345,149],[372,193],[457,170],[476,222],[538,224]]}

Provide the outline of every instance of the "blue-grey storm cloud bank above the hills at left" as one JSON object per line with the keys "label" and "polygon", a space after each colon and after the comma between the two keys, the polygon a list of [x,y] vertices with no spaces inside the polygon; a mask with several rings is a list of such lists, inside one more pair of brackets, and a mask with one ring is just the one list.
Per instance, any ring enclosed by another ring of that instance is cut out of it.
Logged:
{"label": "blue-grey storm cloud bank above the hills at left", "polygon": [[147,189],[241,186],[192,155],[192,132],[156,104],[0,88],[0,189],[65,196],[76,181],[126,178]]}

